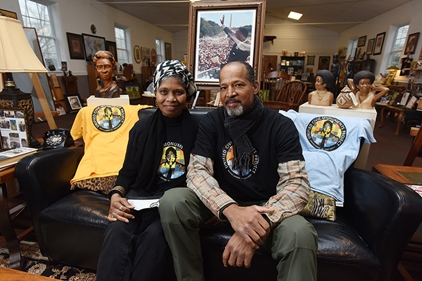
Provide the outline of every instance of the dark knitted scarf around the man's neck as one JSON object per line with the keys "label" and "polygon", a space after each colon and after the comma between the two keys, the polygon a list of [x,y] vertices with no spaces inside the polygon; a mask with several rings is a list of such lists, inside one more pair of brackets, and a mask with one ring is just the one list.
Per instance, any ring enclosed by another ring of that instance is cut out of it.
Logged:
{"label": "dark knitted scarf around the man's neck", "polygon": [[263,104],[257,95],[254,95],[252,107],[239,116],[230,117],[225,110],[224,126],[229,131],[234,147],[234,170],[247,169],[252,163],[253,146],[249,137],[247,137],[247,132],[259,122],[262,112]]}

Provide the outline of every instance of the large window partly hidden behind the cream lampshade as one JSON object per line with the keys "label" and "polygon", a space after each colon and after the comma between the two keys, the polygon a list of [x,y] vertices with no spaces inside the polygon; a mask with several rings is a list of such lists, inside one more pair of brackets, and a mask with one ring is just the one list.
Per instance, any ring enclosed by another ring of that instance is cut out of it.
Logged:
{"label": "large window partly hidden behind the cream lampshade", "polygon": [[[49,6],[32,0],[19,0],[19,6],[22,12],[22,24],[26,27],[33,27],[37,31],[46,67],[51,71],[54,68],[60,70],[56,35]],[[54,68],[51,65],[54,65]]]}

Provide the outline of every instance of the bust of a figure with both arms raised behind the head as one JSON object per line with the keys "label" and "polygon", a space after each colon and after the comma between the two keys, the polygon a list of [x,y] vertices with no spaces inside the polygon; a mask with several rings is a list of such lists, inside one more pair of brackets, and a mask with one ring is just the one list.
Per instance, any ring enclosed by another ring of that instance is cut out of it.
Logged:
{"label": "bust of a figure with both arms raised behind the head", "polygon": [[[350,90],[356,96],[357,105],[353,108],[373,109],[375,103],[389,92],[387,87],[375,87],[373,81],[375,75],[371,71],[362,70],[355,74],[355,77],[348,79]],[[380,91],[375,94],[376,91]]]}

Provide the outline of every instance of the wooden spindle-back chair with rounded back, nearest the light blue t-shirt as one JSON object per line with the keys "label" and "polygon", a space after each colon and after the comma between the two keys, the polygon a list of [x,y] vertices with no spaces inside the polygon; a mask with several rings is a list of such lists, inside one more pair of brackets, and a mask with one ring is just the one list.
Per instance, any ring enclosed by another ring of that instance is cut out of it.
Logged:
{"label": "wooden spindle-back chair with rounded back, nearest the light blue t-shirt", "polygon": [[282,87],[275,101],[263,101],[263,106],[273,110],[299,110],[300,101],[307,90],[307,85],[302,81],[290,81]]}

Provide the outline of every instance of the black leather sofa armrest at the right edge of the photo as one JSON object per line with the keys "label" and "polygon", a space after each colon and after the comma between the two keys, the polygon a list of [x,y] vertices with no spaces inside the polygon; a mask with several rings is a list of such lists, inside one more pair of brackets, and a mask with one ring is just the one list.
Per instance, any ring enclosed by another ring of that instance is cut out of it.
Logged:
{"label": "black leather sofa armrest at the right edge of the photo", "polygon": [[386,176],[350,168],[344,178],[348,221],[380,259],[379,280],[389,280],[422,221],[422,198]]}

